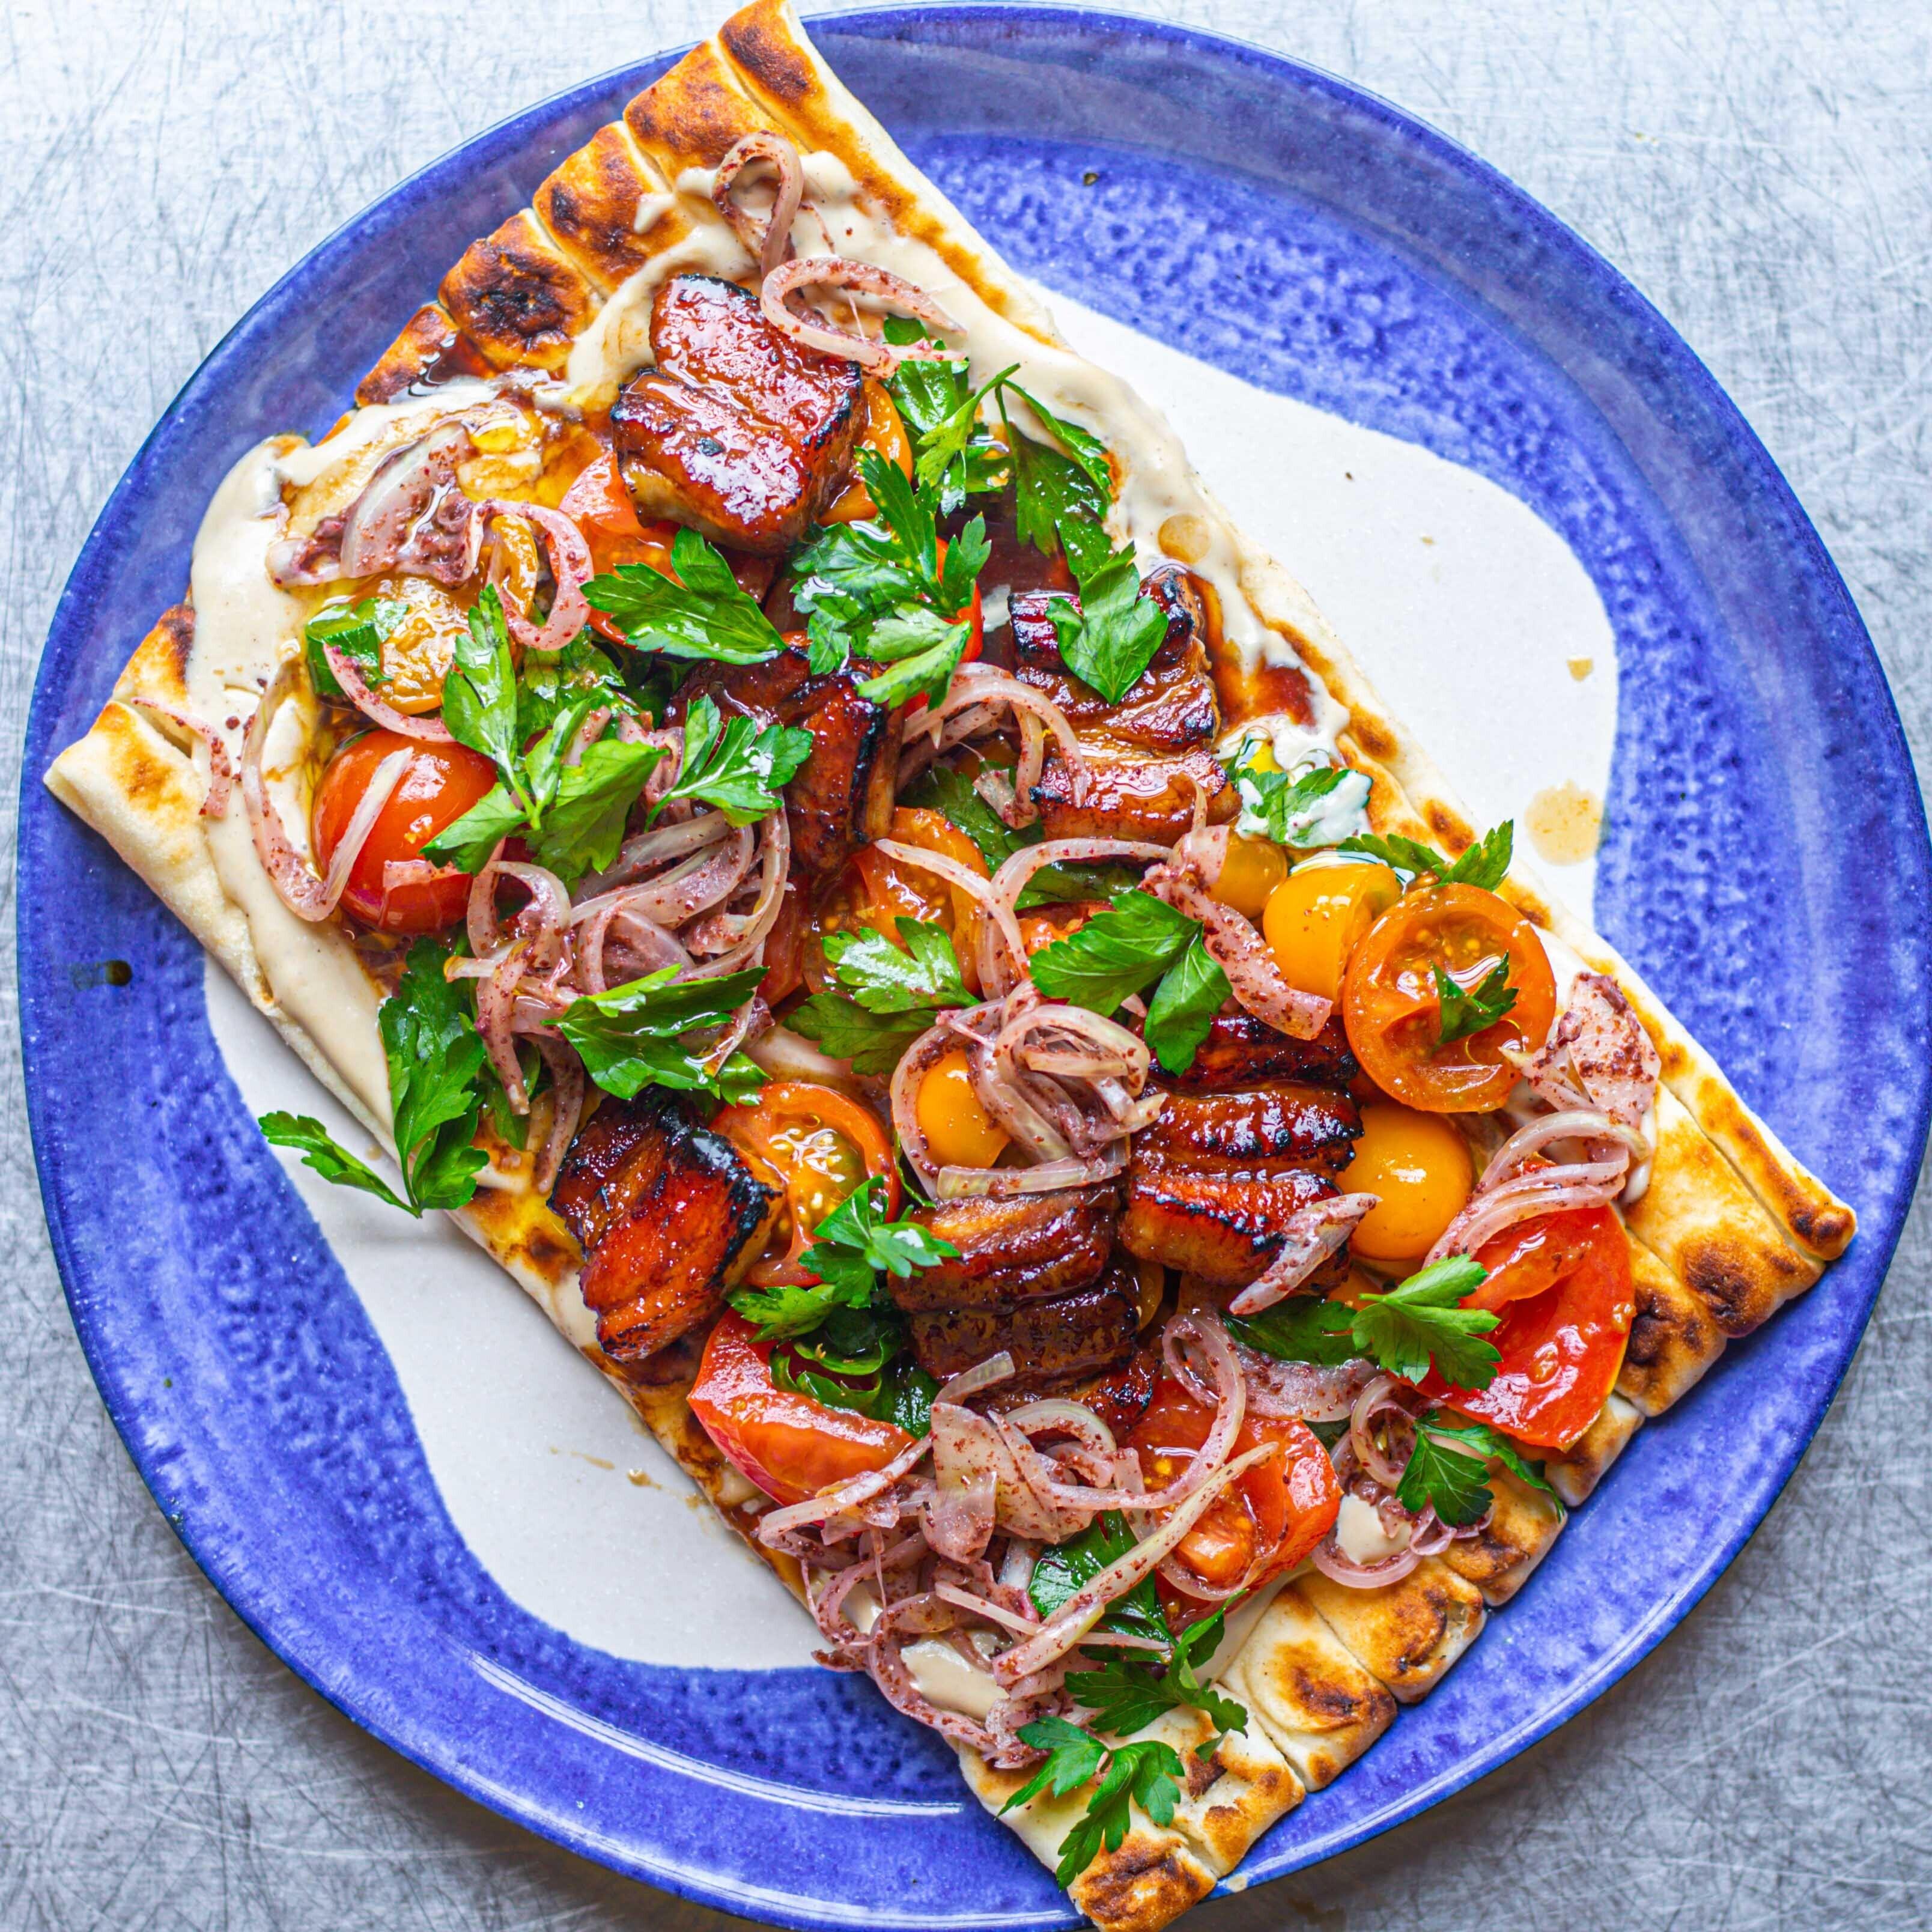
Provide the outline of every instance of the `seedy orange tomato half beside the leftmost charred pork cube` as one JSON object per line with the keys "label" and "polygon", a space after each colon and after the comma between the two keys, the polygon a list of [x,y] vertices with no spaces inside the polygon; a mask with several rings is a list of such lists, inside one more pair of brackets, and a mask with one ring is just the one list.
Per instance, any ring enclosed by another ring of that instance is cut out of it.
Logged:
{"label": "seedy orange tomato half beside the leftmost charred pork cube", "polygon": [[887,1219],[898,1209],[898,1167],[885,1128],[869,1107],[811,1080],[771,1080],[755,1101],[726,1107],[711,1122],[752,1163],[767,1186],[784,1194],[773,1244],[752,1264],[753,1287],[817,1281],[798,1258],[817,1225],[864,1180],[885,1182]]}

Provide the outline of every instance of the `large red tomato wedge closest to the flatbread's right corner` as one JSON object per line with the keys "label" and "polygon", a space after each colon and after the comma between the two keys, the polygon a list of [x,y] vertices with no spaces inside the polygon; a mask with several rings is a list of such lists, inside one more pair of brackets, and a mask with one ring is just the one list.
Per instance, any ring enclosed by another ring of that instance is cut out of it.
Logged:
{"label": "large red tomato wedge closest to the flatbread's right corner", "polygon": [[1488,1389],[1422,1387],[1519,1441],[1569,1449],[1596,1420],[1623,1368],[1636,1298],[1631,1248],[1609,1208],[1540,1215],[1484,1242],[1490,1279],[1464,1308],[1501,1316],[1484,1337],[1499,1354]]}

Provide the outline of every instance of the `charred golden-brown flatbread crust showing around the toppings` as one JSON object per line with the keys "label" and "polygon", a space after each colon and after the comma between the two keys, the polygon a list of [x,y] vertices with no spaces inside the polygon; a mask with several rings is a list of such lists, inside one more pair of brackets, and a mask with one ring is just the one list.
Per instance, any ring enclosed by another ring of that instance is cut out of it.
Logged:
{"label": "charred golden-brown flatbread crust showing around the toppings", "polygon": [[[1053,352],[1063,367],[1086,367],[1065,352],[1036,294],[819,60],[790,6],[755,0],[630,102],[620,122],[564,158],[537,187],[533,207],[462,255],[442,278],[439,299],[410,317],[377,359],[357,402],[400,410],[412,384],[518,365],[568,373],[585,348],[605,361],[645,359],[638,305],[628,294],[686,267],[738,276],[752,269],[709,205],[709,178],[690,170],[715,168],[732,141],[755,128],[775,128],[802,153],[837,166],[852,184],[852,209],[929,249],[952,278],[939,290],[949,303],[972,299],[1020,338]],[[844,251],[862,251],[848,236],[833,240]],[[1136,425],[1165,435],[1165,425],[1122,386],[1105,394],[1115,412],[1138,412]],[[290,446],[294,439],[270,444]],[[1179,446],[1161,446],[1179,458]],[[1179,469],[1186,469],[1184,462]],[[1464,850],[1472,827],[1441,773],[1383,709],[1306,591],[1256,551],[1190,475],[1169,481],[1200,506],[1190,516],[1209,547],[1204,554],[1231,564],[1227,583],[1246,611],[1223,609],[1223,622],[1244,616],[1250,628],[1258,620],[1285,639],[1306,667],[1304,703],[1341,707],[1339,744],[1372,779],[1372,823],[1449,852]],[[298,526],[313,524],[323,508],[303,504]],[[162,896],[317,1078],[386,1142],[381,1065],[373,1072],[369,1065],[344,1068],[323,1053],[286,989],[270,985],[263,927],[255,923],[267,914],[240,904],[211,860],[209,821],[201,815],[207,750],[147,709],[191,709],[191,653],[193,611],[178,607],[133,653],[93,730],[56,759],[46,782]],[[1219,670],[1225,688],[1254,676],[1235,661],[1223,661]],[[1293,697],[1293,674],[1277,674],[1275,682]],[[1505,891],[1536,925],[1623,987],[1663,1059],[1650,1188],[1629,1211],[1636,1325],[1619,1393],[1577,1451],[1549,1464],[1557,1493],[1580,1503],[1638,1422],[1677,1401],[1725,1339],[1748,1333],[1816,1281],[1822,1264],[1843,1252],[1855,1223],[1600,937],[1522,871]],[[332,933],[311,929],[311,937],[317,970],[342,972],[342,958],[330,952]],[[346,945],[338,949],[348,954]],[[672,1358],[624,1370],[605,1358],[578,1294],[576,1242],[527,1180],[518,1186],[514,1173],[506,1179],[506,1188],[460,1211],[466,1231],[611,1378],[721,1515],[759,1549],[746,1507],[753,1492],[684,1401],[694,1364]],[[1482,1536],[1424,1559],[1401,1582],[1347,1590],[1310,1571],[1277,1594],[1221,1677],[1248,1706],[1250,1733],[1223,1743],[1215,1762],[1200,1770],[1204,1781],[1198,1791],[1190,1785],[1173,1826],[1136,1818],[1122,1847],[1082,1874],[1072,1895],[1088,1917],[1119,1932],[1167,1924],[1231,1870],[1304,1789],[1320,1789],[1360,1756],[1393,1721],[1397,1702],[1414,1702],[1441,1681],[1482,1633],[1488,1609],[1522,1586],[1563,1526],[1561,1507],[1515,1478],[1497,1478],[1495,1493],[1495,1517]],[[763,1549],[759,1555],[798,1588],[796,1569]],[[1180,1731],[1186,1718],[1175,1719]],[[964,1754],[964,1772],[995,1810],[1018,1783],[1012,1774],[989,1772],[972,1752]],[[1009,1824],[1051,1866],[1066,1824],[1082,1808],[1078,1793],[1036,1801]]]}

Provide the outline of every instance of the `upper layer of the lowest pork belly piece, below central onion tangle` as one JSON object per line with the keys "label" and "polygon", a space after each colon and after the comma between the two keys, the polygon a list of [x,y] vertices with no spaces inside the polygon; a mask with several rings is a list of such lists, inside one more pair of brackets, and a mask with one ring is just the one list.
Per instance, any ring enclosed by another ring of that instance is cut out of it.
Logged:
{"label": "upper layer of the lowest pork belly piece, below central onion tangle", "polygon": [[895,1275],[887,1285],[906,1314],[1065,1294],[1099,1277],[1119,1215],[1121,1190],[1113,1184],[914,1208],[908,1219],[952,1242],[958,1258],[922,1267],[910,1281]]}

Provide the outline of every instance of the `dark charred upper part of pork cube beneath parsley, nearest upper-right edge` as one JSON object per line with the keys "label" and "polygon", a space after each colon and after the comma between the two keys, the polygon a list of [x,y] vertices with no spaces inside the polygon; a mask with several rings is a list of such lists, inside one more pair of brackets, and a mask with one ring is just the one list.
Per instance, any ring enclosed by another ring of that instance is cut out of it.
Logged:
{"label": "dark charred upper part of pork cube beneath parsley, nearest upper-right edge", "polygon": [[1095,752],[1179,757],[1211,744],[1221,728],[1202,641],[1200,595],[1179,564],[1150,572],[1140,593],[1167,612],[1167,638],[1119,705],[1109,705],[1090,684],[1082,684],[1061,659],[1051,612],[1055,603],[1078,605],[1072,597],[1030,591],[1012,599],[1014,676],[1051,697],[1080,742]]}

